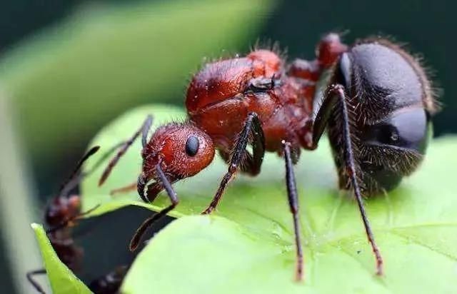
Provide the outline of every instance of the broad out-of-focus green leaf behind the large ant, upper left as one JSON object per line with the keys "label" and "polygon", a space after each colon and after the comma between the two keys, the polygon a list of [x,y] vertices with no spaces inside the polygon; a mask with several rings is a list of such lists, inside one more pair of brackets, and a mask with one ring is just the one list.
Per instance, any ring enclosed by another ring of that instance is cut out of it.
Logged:
{"label": "broad out-of-focus green leaf behind the large ant, upper left", "polygon": [[92,4],[24,42],[0,61],[0,83],[14,97],[29,152],[52,161],[55,148],[81,146],[126,108],[181,103],[204,57],[256,41],[272,2]]}

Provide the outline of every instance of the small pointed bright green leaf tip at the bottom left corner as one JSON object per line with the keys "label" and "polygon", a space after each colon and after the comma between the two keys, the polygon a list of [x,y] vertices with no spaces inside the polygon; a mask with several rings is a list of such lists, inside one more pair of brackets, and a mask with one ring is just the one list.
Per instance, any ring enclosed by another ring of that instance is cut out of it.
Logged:
{"label": "small pointed bright green leaf tip at the bottom left corner", "polygon": [[52,292],[54,294],[92,293],[79,278],[76,278],[64,263],[61,263],[49,242],[43,226],[32,223],[31,228],[35,231],[36,240],[38,241],[41,256],[44,260],[44,268],[46,268],[49,283],[51,283]]}

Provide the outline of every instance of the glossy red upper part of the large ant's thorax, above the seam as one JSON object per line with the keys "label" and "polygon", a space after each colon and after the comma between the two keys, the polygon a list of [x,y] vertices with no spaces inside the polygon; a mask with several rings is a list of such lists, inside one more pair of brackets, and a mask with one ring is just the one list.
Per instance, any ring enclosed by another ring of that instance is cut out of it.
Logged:
{"label": "glossy red upper part of the large ant's thorax, above the seam", "polygon": [[189,113],[196,113],[250,89],[268,90],[273,86],[273,77],[280,76],[281,65],[279,56],[268,50],[206,64],[191,80],[186,108]]}

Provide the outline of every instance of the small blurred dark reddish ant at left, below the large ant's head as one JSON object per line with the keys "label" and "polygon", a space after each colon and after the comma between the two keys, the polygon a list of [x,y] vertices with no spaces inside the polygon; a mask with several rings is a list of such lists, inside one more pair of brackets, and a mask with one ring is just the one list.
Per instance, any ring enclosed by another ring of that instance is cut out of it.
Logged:
{"label": "small blurred dark reddish ant at left, below the large ant's head", "polygon": [[[72,237],[72,227],[76,225],[76,220],[91,213],[99,206],[89,209],[88,211],[81,213],[81,198],[79,195],[72,194],[70,192],[76,188],[81,180],[88,176],[90,173],[96,170],[106,158],[108,158],[116,149],[123,146],[124,142],[111,148],[107,151],[94,167],[86,173],[79,173],[79,170],[83,163],[99,151],[99,146],[94,146],[79,160],[71,173],[69,178],[61,184],[61,188],[57,196],[55,196],[51,202],[46,206],[44,213],[44,222],[48,229],[46,234],[48,235],[49,241],[51,242],[52,248],[56,251],[57,256],[70,270],[74,271],[79,268],[83,250],[81,247],[75,244],[74,238]],[[45,293],[41,285],[34,280],[34,275],[44,275],[46,270],[41,268],[39,270],[32,270],[26,273],[26,277],[34,286],[39,293]]]}

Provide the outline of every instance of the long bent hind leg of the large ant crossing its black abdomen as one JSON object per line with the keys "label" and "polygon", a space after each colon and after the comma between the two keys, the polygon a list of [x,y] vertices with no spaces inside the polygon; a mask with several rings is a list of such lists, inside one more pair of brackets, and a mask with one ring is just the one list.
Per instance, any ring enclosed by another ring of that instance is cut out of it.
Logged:
{"label": "long bent hind leg of the large ant crossing its black abdomen", "polygon": [[[318,138],[321,137],[323,129],[326,126],[328,118],[334,107],[339,106],[339,111],[341,111],[341,120],[343,123],[343,144],[344,144],[344,153],[346,161],[346,173],[348,173],[349,178],[351,179],[351,186],[356,197],[358,204],[358,209],[363,220],[363,225],[365,226],[366,235],[368,237],[368,242],[371,244],[373,253],[376,257],[376,274],[383,274],[383,258],[379,251],[378,245],[374,240],[373,231],[371,230],[371,225],[366,216],[365,207],[363,206],[363,198],[361,194],[360,186],[358,185],[358,179],[356,174],[356,161],[353,156],[353,146],[351,140],[351,128],[348,118],[348,106],[346,104],[346,94],[344,93],[344,86],[339,84],[331,86],[328,91],[325,100],[321,109],[318,111],[316,116],[316,121],[313,126],[313,144],[316,145]],[[325,108],[324,108],[325,107]]]}

